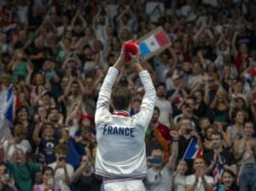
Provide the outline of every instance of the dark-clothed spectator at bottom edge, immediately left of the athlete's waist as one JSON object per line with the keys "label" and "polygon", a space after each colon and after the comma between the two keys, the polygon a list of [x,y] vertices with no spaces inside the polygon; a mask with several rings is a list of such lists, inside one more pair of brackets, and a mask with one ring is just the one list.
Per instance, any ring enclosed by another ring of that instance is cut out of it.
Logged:
{"label": "dark-clothed spectator at bottom edge, immediately left of the athlete's waist", "polygon": [[93,163],[90,153],[81,157],[79,168],[72,176],[72,186],[74,190],[100,191],[101,181],[93,172]]}

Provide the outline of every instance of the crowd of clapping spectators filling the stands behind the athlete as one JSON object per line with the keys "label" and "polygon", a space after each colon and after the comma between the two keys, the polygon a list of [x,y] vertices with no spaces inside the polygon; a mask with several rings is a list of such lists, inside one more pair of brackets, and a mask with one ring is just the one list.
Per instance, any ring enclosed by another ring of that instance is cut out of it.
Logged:
{"label": "crowd of clapping spectators filling the stands behind the athlete", "polygon": [[[146,189],[256,190],[255,0],[0,0],[0,93],[15,95],[0,190],[100,190],[101,82],[123,42],[158,26],[172,44],[142,61],[156,85]],[[130,115],[138,79],[124,64]],[[191,140],[203,156],[184,160]]]}

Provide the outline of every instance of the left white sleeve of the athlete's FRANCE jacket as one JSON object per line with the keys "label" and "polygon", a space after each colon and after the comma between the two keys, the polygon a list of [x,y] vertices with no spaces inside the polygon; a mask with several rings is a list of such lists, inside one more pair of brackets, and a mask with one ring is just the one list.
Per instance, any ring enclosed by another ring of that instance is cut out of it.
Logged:
{"label": "left white sleeve of the athlete's FRANCE jacket", "polygon": [[[97,101],[96,113],[95,113],[95,123],[100,123],[100,120],[105,116],[109,115],[109,104],[112,93],[112,87],[116,81],[119,71],[117,68],[109,68],[103,84],[100,88],[100,93]],[[98,125],[96,125],[98,126]]]}

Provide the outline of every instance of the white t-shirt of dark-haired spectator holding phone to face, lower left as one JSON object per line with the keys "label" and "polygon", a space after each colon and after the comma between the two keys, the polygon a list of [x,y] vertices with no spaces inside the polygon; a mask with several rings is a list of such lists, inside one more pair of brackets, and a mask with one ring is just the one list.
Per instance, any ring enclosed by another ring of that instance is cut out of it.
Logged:
{"label": "white t-shirt of dark-haired spectator holding phone to face, lower left", "polygon": [[[54,169],[56,165],[57,165],[57,163],[53,162],[53,163],[49,164],[48,166],[51,167],[52,169]],[[73,168],[68,163],[66,164],[66,167],[67,167],[68,175],[71,178],[72,174],[73,174]],[[65,190],[65,191],[70,191],[71,190],[70,186],[67,185],[67,183],[65,181],[65,170],[64,170],[64,168],[61,168],[61,169],[59,168],[55,171],[54,179],[55,179],[55,183],[60,185],[61,190]]]}

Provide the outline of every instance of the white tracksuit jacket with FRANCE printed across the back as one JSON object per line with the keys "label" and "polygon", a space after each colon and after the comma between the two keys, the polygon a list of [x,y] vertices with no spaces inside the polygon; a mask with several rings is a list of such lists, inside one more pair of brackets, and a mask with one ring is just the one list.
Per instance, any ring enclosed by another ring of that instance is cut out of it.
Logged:
{"label": "white tracksuit jacket with FRANCE printed across the back", "polygon": [[96,174],[110,178],[142,178],[147,173],[145,131],[151,121],[156,90],[147,70],[139,73],[145,89],[140,111],[132,117],[109,112],[111,90],[119,71],[109,68],[100,88],[95,122],[98,148]]}

